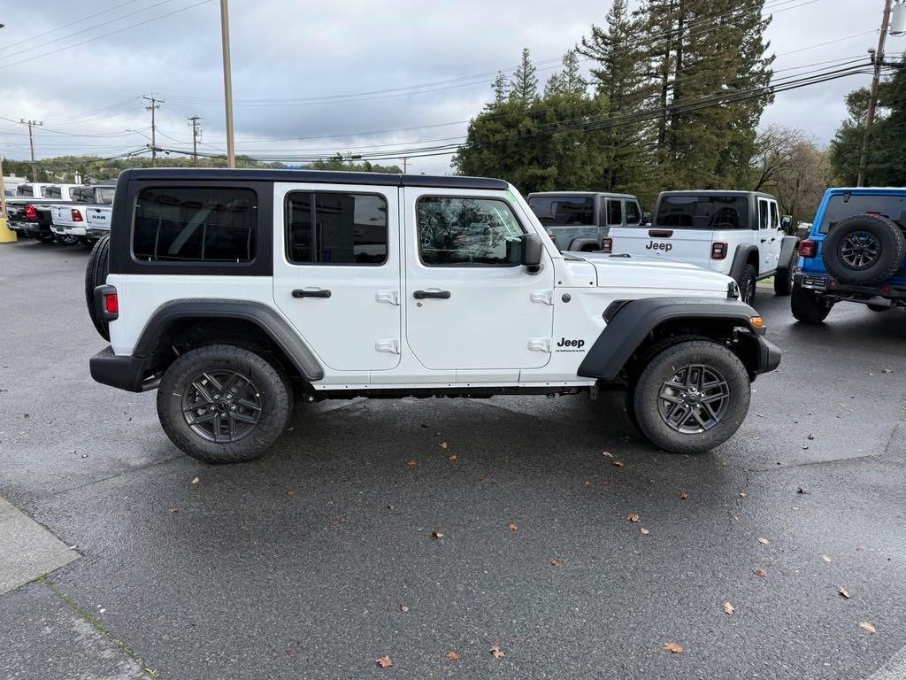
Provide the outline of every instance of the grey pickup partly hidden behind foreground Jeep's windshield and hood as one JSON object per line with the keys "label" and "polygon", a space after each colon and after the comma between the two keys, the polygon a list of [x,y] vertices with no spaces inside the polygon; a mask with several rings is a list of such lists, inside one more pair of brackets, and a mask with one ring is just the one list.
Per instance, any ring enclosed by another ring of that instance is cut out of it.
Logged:
{"label": "grey pickup partly hidden behind foreground Jeep's windshield and hood", "polygon": [[600,250],[615,227],[635,227],[651,220],[630,194],[595,191],[540,191],[527,196],[528,206],[557,249]]}

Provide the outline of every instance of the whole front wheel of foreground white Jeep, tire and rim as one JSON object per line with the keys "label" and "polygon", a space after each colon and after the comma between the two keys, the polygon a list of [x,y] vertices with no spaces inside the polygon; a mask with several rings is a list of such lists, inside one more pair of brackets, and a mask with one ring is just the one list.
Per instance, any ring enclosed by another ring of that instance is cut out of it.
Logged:
{"label": "whole front wheel of foreground white Jeep, tire and rim", "polygon": [[737,355],[710,340],[689,340],[645,366],[634,411],[651,443],[671,453],[700,453],[737,432],[750,399],[748,372]]}

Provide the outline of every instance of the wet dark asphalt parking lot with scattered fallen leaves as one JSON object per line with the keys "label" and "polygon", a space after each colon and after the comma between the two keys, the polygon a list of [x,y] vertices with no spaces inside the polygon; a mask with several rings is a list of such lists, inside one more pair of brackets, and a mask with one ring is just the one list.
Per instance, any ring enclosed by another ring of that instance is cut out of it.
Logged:
{"label": "wet dark asphalt parking lot with scattered fallen leaves", "polygon": [[0,495],[78,556],[0,596],[0,676],[906,673],[906,314],[805,327],[762,290],[783,364],[705,455],[614,396],[407,399],[212,467],[92,382],[86,257],[0,246]]}

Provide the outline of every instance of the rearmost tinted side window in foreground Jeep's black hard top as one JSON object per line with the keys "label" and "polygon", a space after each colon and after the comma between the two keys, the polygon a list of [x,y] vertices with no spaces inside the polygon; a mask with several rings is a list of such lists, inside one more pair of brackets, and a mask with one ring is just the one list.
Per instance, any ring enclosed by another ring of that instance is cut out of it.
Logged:
{"label": "rearmost tinted side window in foreground Jeep's black hard top", "polygon": [[252,189],[142,189],[132,252],[146,262],[251,262],[257,209]]}

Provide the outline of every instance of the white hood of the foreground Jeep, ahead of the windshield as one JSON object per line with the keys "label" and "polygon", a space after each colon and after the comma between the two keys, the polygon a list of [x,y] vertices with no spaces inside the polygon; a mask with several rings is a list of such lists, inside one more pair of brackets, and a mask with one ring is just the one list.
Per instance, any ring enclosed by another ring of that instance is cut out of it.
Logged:
{"label": "white hood of the foreground Jeep, ahead of the windshield", "polygon": [[663,257],[626,257],[597,253],[582,253],[581,257],[594,266],[599,287],[698,290],[727,295],[727,287],[733,281],[719,272]]}

